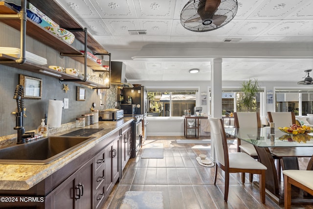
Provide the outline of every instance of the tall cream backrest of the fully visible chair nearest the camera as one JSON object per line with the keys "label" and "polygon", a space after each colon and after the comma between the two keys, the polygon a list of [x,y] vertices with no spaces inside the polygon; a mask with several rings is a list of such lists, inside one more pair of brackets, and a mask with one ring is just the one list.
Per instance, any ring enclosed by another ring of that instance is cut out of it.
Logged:
{"label": "tall cream backrest of the fully visible chair nearest the camera", "polygon": [[208,116],[211,125],[211,140],[214,140],[215,159],[225,167],[229,167],[228,147],[224,130],[224,124],[221,118]]}

